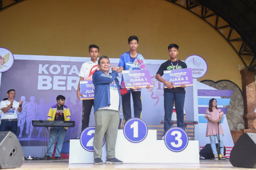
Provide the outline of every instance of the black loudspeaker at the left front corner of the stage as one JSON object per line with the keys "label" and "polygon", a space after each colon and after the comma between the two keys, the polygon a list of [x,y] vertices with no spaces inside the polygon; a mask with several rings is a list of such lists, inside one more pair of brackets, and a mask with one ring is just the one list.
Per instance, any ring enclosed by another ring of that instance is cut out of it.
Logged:
{"label": "black loudspeaker at the left front corner of the stage", "polygon": [[0,132],[0,169],[20,167],[25,159],[16,135],[10,131]]}

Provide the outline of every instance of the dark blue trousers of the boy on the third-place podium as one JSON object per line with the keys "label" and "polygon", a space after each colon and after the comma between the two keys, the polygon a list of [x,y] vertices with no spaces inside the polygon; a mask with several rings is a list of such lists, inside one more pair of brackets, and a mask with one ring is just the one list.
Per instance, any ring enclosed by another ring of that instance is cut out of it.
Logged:
{"label": "dark blue trousers of the boy on the third-place podium", "polygon": [[184,102],[185,94],[165,91],[163,94],[163,106],[165,110],[165,122],[163,124],[164,134],[171,128],[171,118],[173,114],[173,103],[175,101],[175,109],[177,114],[177,126],[185,130],[184,124]]}

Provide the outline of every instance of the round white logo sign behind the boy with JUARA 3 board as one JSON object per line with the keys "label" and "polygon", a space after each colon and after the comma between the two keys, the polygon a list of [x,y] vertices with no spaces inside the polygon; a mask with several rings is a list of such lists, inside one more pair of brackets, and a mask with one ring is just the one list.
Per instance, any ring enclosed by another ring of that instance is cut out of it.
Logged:
{"label": "round white logo sign behind the boy with JUARA 3 board", "polygon": [[199,55],[190,55],[184,62],[187,68],[192,68],[192,76],[194,79],[203,77],[207,72],[207,63],[204,58]]}

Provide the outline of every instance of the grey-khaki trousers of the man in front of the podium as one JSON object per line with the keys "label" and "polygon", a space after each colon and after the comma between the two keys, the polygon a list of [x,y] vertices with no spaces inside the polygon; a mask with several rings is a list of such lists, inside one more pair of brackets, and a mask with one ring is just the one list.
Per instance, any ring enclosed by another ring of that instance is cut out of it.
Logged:
{"label": "grey-khaki trousers of the man in front of the podium", "polygon": [[95,133],[93,139],[93,157],[102,157],[102,142],[106,133],[107,158],[115,157],[115,142],[119,125],[119,112],[116,110],[97,110],[95,117]]}

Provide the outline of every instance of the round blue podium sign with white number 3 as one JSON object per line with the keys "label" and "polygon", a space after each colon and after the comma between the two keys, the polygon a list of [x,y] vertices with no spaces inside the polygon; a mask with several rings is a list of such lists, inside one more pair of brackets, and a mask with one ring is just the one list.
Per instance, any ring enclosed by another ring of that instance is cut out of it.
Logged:
{"label": "round blue podium sign with white number 3", "polygon": [[173,152],[181,152],[187,147],[188,135],[182,128],[173,127],[165,133],[165,145]]}

